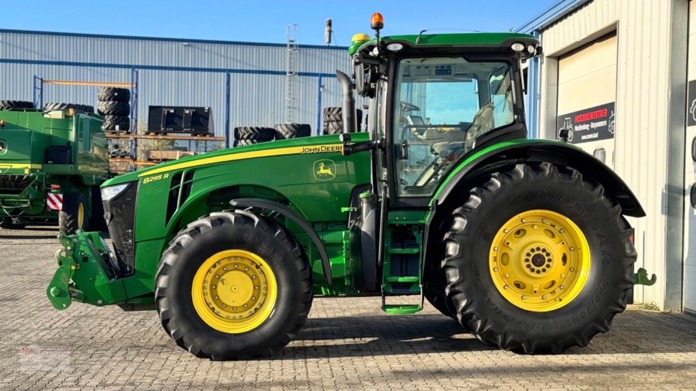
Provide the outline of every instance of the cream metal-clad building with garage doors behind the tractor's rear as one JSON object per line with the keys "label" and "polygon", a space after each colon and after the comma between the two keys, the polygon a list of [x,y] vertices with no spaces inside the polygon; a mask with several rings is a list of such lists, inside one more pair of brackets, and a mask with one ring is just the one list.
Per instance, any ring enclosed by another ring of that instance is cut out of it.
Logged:
{"label": "cream metal-clad building with garage doors behind the tractor's rear", "polygon": [[518,31],[544,47],[528,65],[532,135],[571,130],[647,213],[630,219],[636,269],[658,282],[635,301],[696,313],[696,2],[562,0]]}

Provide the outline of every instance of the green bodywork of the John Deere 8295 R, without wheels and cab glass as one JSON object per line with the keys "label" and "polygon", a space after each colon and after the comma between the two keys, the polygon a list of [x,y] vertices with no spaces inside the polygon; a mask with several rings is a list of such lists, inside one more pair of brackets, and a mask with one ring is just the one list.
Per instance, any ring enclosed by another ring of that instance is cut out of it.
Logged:
{"label": "green bodywork of the John Deere 8295 R, without wheels and cab glass", "polygon": [[[450,52],[458,46],[491,47],[491,52],[501,47],[509,50],[509,42],[518,40],[538,44],[529,35],[512,33],[383,38],[385,42],[433,45]],[[359,56],[371,42],[374,40],[357,42],[349,52]],[[516,77],[521,79],[519,74]],[[522,97],[520,91],[516,93]],[[527,140],[523,110],[518,115],[521,120],[515,134],[521,137],[508,134],[499,140],[493,138],[484,147],[460,156],[438,181],[433,195],[422,200],[425,202],[409,208],[383,208],[383,216],[377,216],[381,222],[375,224],[383,229],[383,240],[372,257],[363,251],[361,230],[355,222],[361,199],[377,197],[381,201],[385,194],[381,188],[370,187],[375,183],[374,152],[344,154],[347,144],[338,135],[237,147],[111,178],[102,185],[102,197],[105,189],[122,186],[112,201],[104,201],[113,251],[98,233],[63,236],[63,248],[56,254],[59,267],[47,289],[48,297],[58,309],[67,308],[71,301],[118,304],[125,310],[153,309],[158,264],[175,235],[202,216],[235,208],[253,208],[276,219],[295,236],[310,261],[317,296],[422,294],[424,265],[438,260],[434,249],[439,239],[428,234],[441,222],[439,210],[454,199],[462,201],[467,193],[459,185],[466,182],[469,173],[502,159],[576,167],[614,194],[624,214],[644,215],[631,191],[608,167],[569,144]],[[352,133],[354,144],[370,140],[369,133]],[[249,201],[259,199],[266,203]],[[370,270],[377,275],[371,276]],[[383,308],[411,313],[420,306]]]}

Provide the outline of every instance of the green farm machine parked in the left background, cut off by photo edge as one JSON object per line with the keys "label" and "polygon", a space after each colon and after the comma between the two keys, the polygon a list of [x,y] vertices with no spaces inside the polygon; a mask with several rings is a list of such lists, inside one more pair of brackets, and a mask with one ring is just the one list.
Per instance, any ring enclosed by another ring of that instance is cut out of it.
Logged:
{"label": "green farm machine parked in the left background, cut off by photo edge", "polygon": [[[0,101],[0,227],[101,228],[99,186],[109,178],[102,117],[91,106]],[[96,217],[96,218],[95,218]]]}

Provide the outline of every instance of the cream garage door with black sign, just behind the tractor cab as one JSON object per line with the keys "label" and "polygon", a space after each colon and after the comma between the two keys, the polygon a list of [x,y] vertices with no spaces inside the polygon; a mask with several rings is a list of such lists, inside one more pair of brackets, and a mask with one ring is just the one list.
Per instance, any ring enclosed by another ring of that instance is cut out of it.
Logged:
{"label": "cream garage door with black sign, just behind the tractor cab", "polygon": [[557,129],[614,167],[616,32],[558,59]]}

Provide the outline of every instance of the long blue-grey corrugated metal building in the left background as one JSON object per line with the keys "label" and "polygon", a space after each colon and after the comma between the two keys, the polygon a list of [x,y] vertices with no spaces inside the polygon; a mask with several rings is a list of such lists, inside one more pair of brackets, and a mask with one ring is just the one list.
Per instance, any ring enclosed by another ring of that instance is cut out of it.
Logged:
{"label": "long blue-grey corrugated metal building in the left background", "polygon": [[[287,53],[286,44],[0,29],[0,99],[32,101],[34,76],[131,83],[136,69],[140,124],[147,122],[150,105],[209,106],[215,133],[222,136],[235,126],[285,122]],[[347,71],[348,51],[300,44],[294,58],[292,117],[316,132],[321,108],[340,106],[335,70]],[[44,87],[45,103],[96,103],[95,86]]]}

